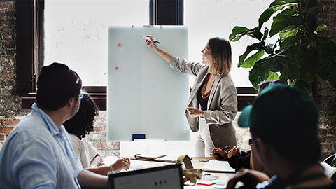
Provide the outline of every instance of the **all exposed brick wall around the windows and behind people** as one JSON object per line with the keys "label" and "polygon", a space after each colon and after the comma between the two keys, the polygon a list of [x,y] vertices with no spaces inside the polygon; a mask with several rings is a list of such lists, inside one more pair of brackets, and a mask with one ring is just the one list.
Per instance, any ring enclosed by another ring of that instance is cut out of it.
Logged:
{"label": "all exposed brick wall around the windows and behind people", "polygon": [[[328,28],[323,36],[336,41],[336,1],[325,1],[327,6],[318,14],[318,23],[325,23]],[[16,87],[16,36],[15,36],[15,1],[0,0],[0,148],[9,132],[27,111],[20,109],[20,97],[15,95]],[[318,80],[318,96],[315,98],[320,111],[320,138],[323,159],[336,153],[336,108],[335,89],[323,80]],[[106,111],[99,111],[94,125],[95,131],[88,138],[102,156],[119,151],[119,142],[106,140]],[[304,131],[302,131],[304,132]],[[243,150],[247,150],[248,130],[237,128],[237,139]]]}

